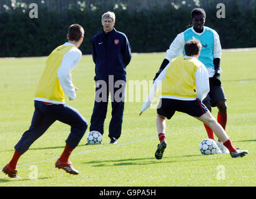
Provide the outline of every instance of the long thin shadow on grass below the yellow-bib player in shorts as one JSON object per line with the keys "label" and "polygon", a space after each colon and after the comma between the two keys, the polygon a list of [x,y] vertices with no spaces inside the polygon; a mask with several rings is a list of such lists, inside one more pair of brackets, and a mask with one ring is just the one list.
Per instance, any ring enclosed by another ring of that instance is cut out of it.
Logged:
{"label": "long thin shadow on grass below the yellow-bib player in shorts", "polygon": [[179,155],[172,157],[163,157],[161,160],[157,160],[154,157],[148,158],[135,158],[135,159],[120,159],[120,160],[94,160],[89,162],[84,162],[83,164],[94,164],[92,167],[111,167],[111,166],[123,166],[123,165],[149,165],[149,164],[163,164],[170,162],[193,162],[193,161],[201,161],[201,159],[189,159],[189,160],[170,160],[176,159],[180,157],[197,157],[200,155]]}

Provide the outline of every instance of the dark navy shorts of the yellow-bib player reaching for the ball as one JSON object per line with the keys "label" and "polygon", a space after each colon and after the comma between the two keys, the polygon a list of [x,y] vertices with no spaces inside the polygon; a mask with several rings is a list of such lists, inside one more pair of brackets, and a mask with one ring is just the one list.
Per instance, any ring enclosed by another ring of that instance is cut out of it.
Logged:
{"label": "dark navy shorts of the yellow-bib player reaching for the ball", "polygon": [[159,105],[157,107],[157,114],[170,119],[172,116],[174,116],[175,111],[187,113],[190,116],[199,118],[205,114],[208,109],[203,103],[200,102],[199,99],[192,101],[167,98],[160,99]]}

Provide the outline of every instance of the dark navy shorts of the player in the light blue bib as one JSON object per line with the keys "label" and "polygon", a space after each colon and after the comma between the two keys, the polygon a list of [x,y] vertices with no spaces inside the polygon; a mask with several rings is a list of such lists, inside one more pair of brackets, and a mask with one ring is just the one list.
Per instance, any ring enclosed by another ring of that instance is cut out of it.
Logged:
{"label": "dark navy shorts of the player in the light blue bib", "polygon": [[222,85],[215,85],[214,83],[212,83],[212,78],[209,78],[209,84],[210,84],[210,91],[206,96],[206,98],[204,98],[203,103],[205,101],[210,101],[210,105],[214,107],[216,106],[217,101],[222,99],[227,100],[225,98],[225,93]]}

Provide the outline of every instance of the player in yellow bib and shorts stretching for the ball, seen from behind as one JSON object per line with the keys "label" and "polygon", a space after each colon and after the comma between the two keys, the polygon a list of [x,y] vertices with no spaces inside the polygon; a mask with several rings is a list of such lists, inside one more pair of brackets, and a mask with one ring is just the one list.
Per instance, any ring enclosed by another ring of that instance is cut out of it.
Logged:
{"label": "player in yellow bib and shorts stretching for the ball, seen from behind", "polygon": [[[155,79],[147,101],[142,106],[141,115],[159,92],[160,103],[157,107],[157,132],[160,144],[155,151],[155,158],[162,159],[167,147],[165,141],[165,118],[170,119],[175,111],[180,111],[207,124],[215,135],[230,151],[231,157],[243,157],[248,150],[235,149],[225,130],[202,103],[209,92],[209,76],[202,62],[198,60],[202,45],[197,39],[185,43],[185,56],[174,58]],[[159,89],[161,90],[159,91]]]}

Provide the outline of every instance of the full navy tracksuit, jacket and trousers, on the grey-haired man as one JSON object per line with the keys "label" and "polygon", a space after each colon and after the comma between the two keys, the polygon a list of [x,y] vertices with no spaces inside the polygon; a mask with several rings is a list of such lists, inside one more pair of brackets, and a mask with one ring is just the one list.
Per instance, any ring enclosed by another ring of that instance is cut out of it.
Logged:
{"label": "full navy tracksuit, jacket and trousers, on the grey-haired man", "polygon": [[[126,81],[126,67],[130,63],[131,50],[130,44],[125,34],[113,29],[107,34],[104,30],[92,37],[92,59],[96,64],[94,80],[104,80],[107,84],[107,101],[94,102],[94,109],[91,117],[90,131],[104,133],[104,120],[107,114],[107,102],[109,92],[114,85],[109,85],[109,75],[117,80]],[[114,93],[122,89],[124,98],[125,85],[113,88]],[[99,90],[96,86],[96,92]],[[114,96],[114,93],[113,96]],[[111,95],[112,95],[111,94]],[[116,101],[112,99],[112,118],[109,124],[109,137],[121,136],[122,117],[124,113],[124,100]]]}

